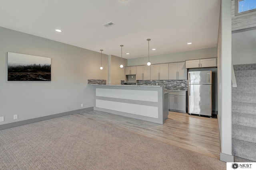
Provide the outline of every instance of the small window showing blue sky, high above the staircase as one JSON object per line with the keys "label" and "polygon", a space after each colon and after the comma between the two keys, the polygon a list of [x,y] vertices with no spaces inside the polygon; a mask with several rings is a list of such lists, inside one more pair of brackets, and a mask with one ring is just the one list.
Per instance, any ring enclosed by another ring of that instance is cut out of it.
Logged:
{"label": "small window showing blue sky, high above the staircase", "polygon": [[235,0],[235,15],[256,11],[256,0]]}

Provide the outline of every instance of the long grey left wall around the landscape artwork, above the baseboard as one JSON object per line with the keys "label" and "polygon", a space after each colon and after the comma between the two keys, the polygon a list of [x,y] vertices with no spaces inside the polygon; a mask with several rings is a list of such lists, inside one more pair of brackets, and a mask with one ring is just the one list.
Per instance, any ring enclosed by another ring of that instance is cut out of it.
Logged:
{"label": "long grey left wall around the landscape artwork, above the baseboard", "polygon": [[[52,81],[7,81],[7,52],[52,58]],[[0,27],[0,125],[93,107],[87,80],[108,80],[104,54],[102,66],[98,52]]]}

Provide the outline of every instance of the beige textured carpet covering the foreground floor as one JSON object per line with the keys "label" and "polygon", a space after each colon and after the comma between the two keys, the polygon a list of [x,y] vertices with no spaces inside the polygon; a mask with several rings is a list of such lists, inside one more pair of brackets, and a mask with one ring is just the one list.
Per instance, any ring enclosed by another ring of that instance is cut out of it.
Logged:
{"label": "beige textured carpet covering the foreground floor", "polygon": [[0,130],[0,170],[206,169],[226,163],[80,114]]}

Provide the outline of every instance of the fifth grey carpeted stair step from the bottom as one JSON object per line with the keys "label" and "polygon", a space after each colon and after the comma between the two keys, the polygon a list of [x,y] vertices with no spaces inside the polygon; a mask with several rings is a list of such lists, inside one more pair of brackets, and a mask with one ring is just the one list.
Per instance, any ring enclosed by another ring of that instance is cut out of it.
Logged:
{"label": "fifth grey carpeted stair step from the bottom", "polygon": [[232,102],[256,103],[256,94],[232,93]]}

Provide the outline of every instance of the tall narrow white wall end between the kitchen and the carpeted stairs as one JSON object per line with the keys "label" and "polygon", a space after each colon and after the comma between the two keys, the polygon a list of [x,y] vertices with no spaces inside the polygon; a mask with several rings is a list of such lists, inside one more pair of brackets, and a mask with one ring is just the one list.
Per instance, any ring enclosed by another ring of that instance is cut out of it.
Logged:
{"label": "tall narrow white wall end between the kitchen and the carpeted stairs", "polygon": [[[222,98],[220,108],[220,160],[233,162],[232,156],[232,114],[231,114],[231,1],[221,1],[221,44],[218,57],[220,57],[219,96]],[[220,42],[218,41],[218,42]],[[218,70],[219,71],[219,70]]]}

